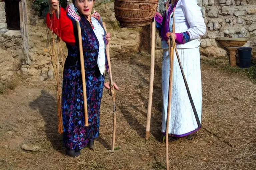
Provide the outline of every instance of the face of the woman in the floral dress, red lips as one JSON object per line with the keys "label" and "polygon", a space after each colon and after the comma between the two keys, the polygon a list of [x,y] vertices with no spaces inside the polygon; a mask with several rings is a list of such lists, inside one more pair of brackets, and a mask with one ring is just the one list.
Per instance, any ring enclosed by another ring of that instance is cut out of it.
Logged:
{"label": "face of the woman in the floral dress, red lips", "polygon": [[92,12],[94,0],[76,0],[75,6],[78,11],[85,16],[89,16]]}

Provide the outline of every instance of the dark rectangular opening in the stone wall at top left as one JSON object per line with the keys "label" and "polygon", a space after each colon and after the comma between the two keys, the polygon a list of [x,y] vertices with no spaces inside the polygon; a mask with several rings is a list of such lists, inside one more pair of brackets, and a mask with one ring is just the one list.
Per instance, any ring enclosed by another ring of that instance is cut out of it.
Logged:
{"label": "dark rectangular opening in the stone wall at top left", "polygon": [[5,0],[6,23],[8,30],[20,30],[19,0]]}

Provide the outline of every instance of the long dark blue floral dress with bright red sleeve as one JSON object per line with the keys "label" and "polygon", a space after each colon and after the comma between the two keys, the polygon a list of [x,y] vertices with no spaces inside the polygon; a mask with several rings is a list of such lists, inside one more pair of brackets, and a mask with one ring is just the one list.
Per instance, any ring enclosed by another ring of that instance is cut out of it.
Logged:
{"label": "long dark blue floral dress with bright red sleeve", "polygon": [[80,150],[87,146],[90,139],[99,135],[100,103],[104,87],[104,74],[100,73],[97,65],[99,41],[89,21],[81,16],[89,122],[89,127],[84,127],[84,99],[76,23],[65,14],[64,9],[61,9],[59,22],[61,38],[67,40],[68,48],[62,87],[63,142],[67,149]]}

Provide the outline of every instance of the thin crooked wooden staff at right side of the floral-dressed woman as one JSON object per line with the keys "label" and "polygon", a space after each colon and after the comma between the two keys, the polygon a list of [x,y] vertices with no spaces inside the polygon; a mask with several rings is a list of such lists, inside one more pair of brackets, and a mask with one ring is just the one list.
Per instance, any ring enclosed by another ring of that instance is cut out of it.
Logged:
{"label": "thin crooked wooden staff at right side of the floral-dressed woman", "polygon": [[[107,32],[106,25],[103,23],[103,27],[105,31]],[[115,140],[116,140],[116,100],[115,100],[115,88],[113,84],[113,78],[112,78],[112,71],[111,71],[111,63],[110,63],[110,53],[109,53],[109,46],[110,41],[108,42],[106,46],[106,56],[108,61],[108,70],[109,70],[109,77],[110,77],[110,93],[112,96],[112,102],[113,102],[113,136],[112,136],[112,146],[110,152],[115,151]]]}

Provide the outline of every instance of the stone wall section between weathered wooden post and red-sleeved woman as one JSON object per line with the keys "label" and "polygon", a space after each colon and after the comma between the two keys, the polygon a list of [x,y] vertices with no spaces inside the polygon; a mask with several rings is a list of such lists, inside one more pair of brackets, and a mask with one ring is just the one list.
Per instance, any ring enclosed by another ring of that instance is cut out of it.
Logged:
{"label": "stone wall section between weathered wooden post and red-sleeved woman", "polygon": [[[23,72],[24,76],[44,81],[53,78],[53,66],[48,51],[47,27],[45,17],[39,17],[39,11],[31,8],[32,1],[27,1],[27,24],[29,36],[30,68]],[[52,38],[49,37],[51,40]],[[57,45],[57,44],[56,44]],[[65,46],[65,44],[63,44]],[[26,63],[22,65],[26,67]],[[28,66],[28,65],[27,65]]]}

